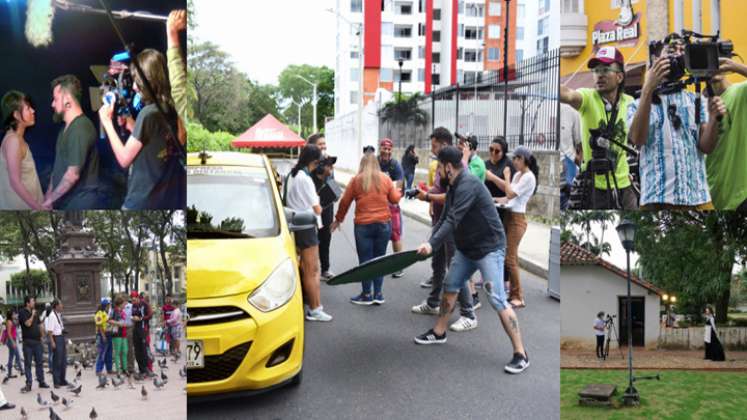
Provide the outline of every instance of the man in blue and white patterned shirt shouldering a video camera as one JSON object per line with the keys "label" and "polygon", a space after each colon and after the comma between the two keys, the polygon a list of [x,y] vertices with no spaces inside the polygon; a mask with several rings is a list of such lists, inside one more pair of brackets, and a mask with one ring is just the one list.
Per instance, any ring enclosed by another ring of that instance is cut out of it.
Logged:
{"label": "man in blue and white patterned shirt shouldering a video camera", "polygon": [[[704,155],[718,141],[717,117],[726,111],[718,97],[700,109],[696,126],[695,94],[684,88],[659,89],[683,74],[673,73],[672,63],[682,56],[685,44],[679,34],[664,39],[664,48],[646,73],[641,97],[628,107],[630,141],[641,147],[641,208],[644,210],[712,210]],[[654,54],[655,55],[655,54]],[[673,76],[670,76],[672,75]]]}

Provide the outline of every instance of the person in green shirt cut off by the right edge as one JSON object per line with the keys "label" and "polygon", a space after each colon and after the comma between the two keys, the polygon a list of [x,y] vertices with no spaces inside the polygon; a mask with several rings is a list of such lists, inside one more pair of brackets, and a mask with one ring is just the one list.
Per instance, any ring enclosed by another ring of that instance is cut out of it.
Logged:
{"label": "person in green shirt cut off by the right edge", "polygon": [[747,77],[747,65],[721,58],[719,74],[711,79],[714,94],[726,106],[726,116],[718,144],[706,157],[706,173],[717,209],[747,212],[747,82],[732,84],[726,73]]}

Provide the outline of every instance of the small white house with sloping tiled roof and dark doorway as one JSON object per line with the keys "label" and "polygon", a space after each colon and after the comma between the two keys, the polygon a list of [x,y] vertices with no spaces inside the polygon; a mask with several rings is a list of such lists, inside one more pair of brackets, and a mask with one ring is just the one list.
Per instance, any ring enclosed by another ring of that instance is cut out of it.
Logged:
{"label": "small white house with sloping tiled roof and dark doorway", "polygon": [[[593,253],[564,242],[560,247],[561,348],[594,348],[597,313],[615,316],[615,336],[627,345],[627,273]],[[662,290],[631,274],[633,346],[654,348],[659,339]],[[616,343],[615,343],[616,344]],[[610,343],[610,346],[613,342]]]}

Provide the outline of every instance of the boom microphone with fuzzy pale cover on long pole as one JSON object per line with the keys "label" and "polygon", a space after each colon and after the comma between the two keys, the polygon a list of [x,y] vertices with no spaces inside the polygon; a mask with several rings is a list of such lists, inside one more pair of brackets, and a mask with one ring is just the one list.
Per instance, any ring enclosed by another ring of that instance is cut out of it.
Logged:
{"label": "boom microphone with fuzzy pale cover on long pole", "polygon": [[[52,43],[52,21],[54,20],[55,9],[107,15],[106,10],[73,3],[68,0],[29,0],[28,9],[26,10],[26,39],[34,47],[46,47]],[[167,16],[154,15],[148,12],[113,10],[111,13],[117,19],[138,19],[160,22],[168,20]]]}

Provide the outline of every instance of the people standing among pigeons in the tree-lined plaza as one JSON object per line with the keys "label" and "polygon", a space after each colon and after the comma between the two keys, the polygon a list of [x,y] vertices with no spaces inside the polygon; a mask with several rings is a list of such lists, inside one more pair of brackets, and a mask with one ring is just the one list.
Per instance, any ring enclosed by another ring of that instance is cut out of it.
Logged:
{"label": "people standing among pigeons in the tree-lined plaza", "polygon": [[[67,375],[70,340],[65,329],[63,309],[63,303],[54,299],[39,311],[36,299],[26,296],[23,307],[18,310],[8,309],[4,319],[0,315],[0,343],[8,348],[7,374],[3,384],[18,377],[13,372],[15,367],[25,378],[21,393],[32,391],[34,378],[39,389],[49,389],[44,370],[46,362],[54,389],[70,385]],[[156,344],[154,352],[154,343],[151,342],[154,337],[151,331],[154,309],[148,294],[137,291],[132,291],[129,295],[117,294],[113,302],[109,297],[103,297],[93,315],[97,351],[94,368],[96,376],[132,375],[136,380],[144,380],[155,376],[153,362],[156,354],[179,358],[179,340],[184,321],[182,311],[173,297],[166,298],[161,314],[162,326],[159,329],[163,333],[157,334],[156,338],[162,342]],[[0,394],[0,409],[13,407]]]}

